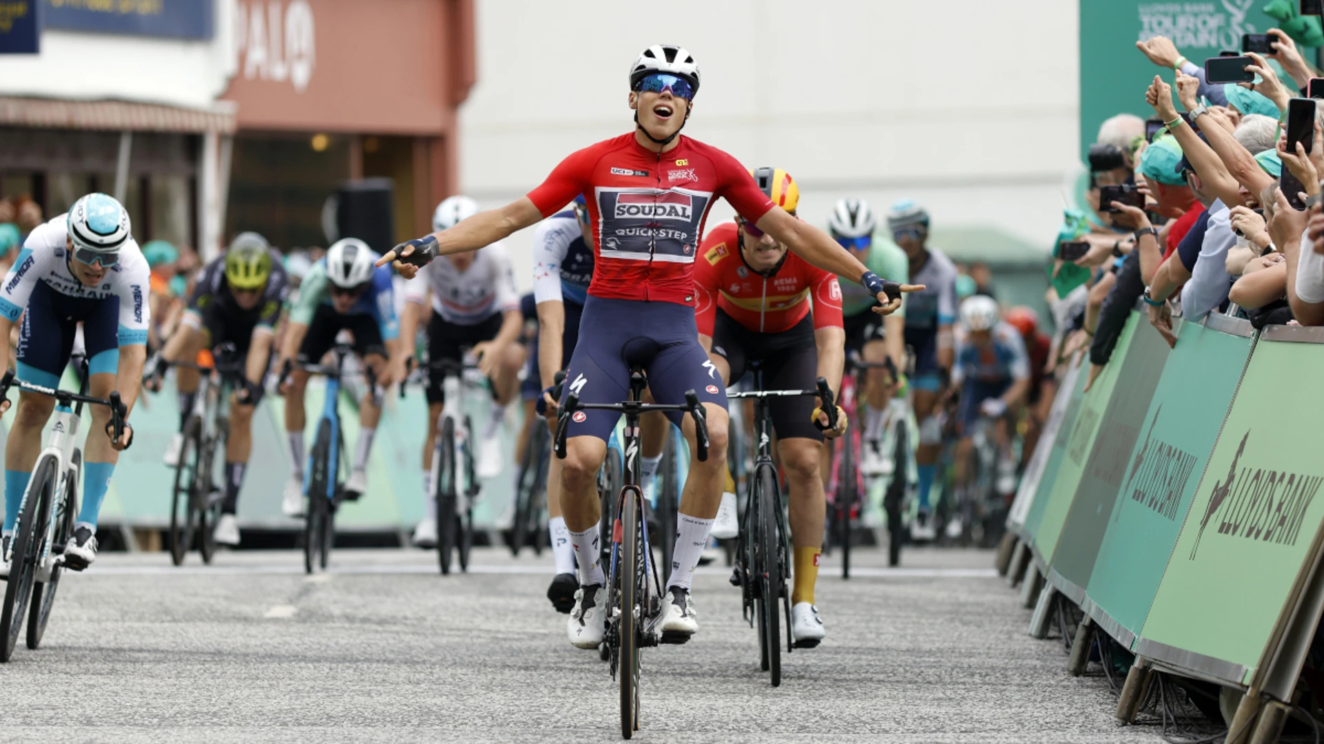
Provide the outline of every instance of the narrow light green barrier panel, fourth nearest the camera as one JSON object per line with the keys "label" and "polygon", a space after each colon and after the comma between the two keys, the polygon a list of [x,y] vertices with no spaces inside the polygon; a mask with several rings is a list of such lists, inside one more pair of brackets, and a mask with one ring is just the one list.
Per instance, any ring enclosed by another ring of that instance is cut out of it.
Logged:
{"label": "narrow light green barrier panel, fourth nearest the camera", "polygon": [[[1103,422],[1108,401],[1112,400],[1112,388],[1117,383],[1119,372],[1127,361],[1131,339],[1136,335],[1140,315],[1136,312],[1132,312],[1131,318],[1127,319],[1127,326],[1121,330],[1121,336],[1117,339],[1117,346],[1112,349],[1112,359],[1103,367],[1094,385],[1086,391],[1084,397],[1080,400],[1080,413],[1071,428],[1066,455],[1058,467],[1053,490],[1049,491],[1047,503],[1043,507],[1043,518],[1039,520],[1039,527],[1034,535],[1034,548],[1050,568],[1057,561],[1054,552],[1058,547],[1058,537],[1062,535],[1062,526],[1066,523],[1067,512],[1071,510],[1071,502],[1075,500],[1075,492],[1080,486],[1080,478],[1084,475],[1090,453],[1094,451],[1094,441],[1099,433],[1099,425]],[[1148,327],[1149,322],[1147,319],[1145,328]],[[1087,372],[1088,369],[1082,372],[1082,376],[1087,375]]]}

